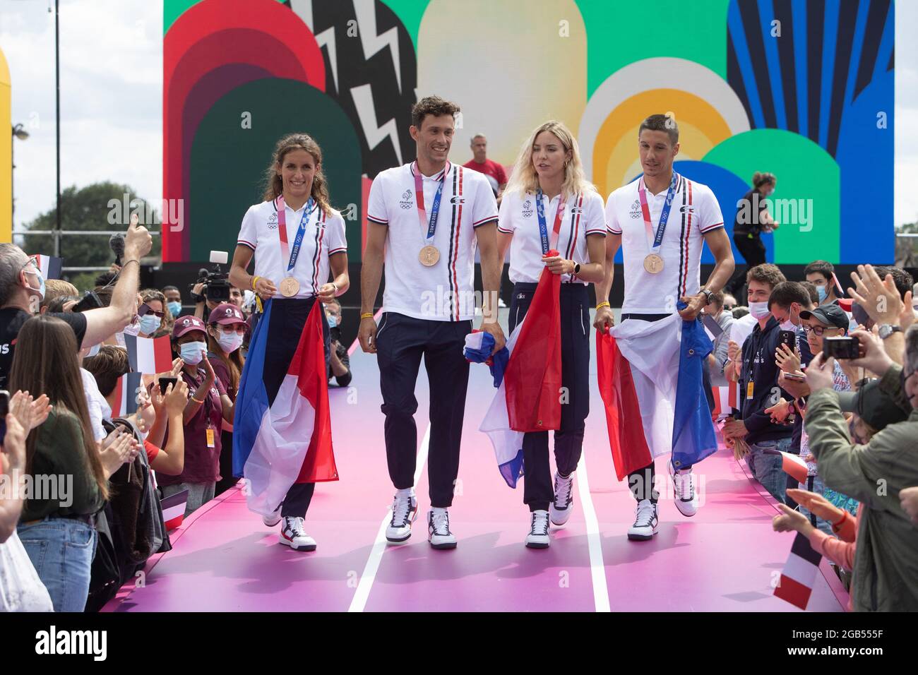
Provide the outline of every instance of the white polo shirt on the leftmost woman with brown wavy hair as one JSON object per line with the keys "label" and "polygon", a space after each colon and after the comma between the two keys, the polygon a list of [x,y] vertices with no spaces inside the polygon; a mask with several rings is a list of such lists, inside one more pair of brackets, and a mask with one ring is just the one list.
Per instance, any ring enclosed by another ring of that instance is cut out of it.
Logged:
{"label": "white polo shirt on the leftmost woman with brown wavy hair", "polygon": [[[293,251],[304,208],[306,204],[296,210],[285,205],[287,251]],[[276,199],[249,207],[242,219],[237,243],[248,246],[255,252],[255,276],[271,279],[275,287],[280,285],[281,279],[285,276],[294,276],[299,282],[297,298],[318,295],[319,288],[329,283],[330,256],[347,251],[344,219],[341,218],[341,213],[332,209],[326,214],[318,207],[313,208],[306,224],[297,264],[288,275],[288,258],[282,260],[281,240],[277,233]],[[274,298],[283,297],[279,289],[274,294]]]}

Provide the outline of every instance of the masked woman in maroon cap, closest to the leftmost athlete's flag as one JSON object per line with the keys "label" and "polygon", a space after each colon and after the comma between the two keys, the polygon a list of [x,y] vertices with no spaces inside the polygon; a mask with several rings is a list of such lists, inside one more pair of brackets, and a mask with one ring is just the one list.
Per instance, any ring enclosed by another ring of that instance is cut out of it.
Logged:
{"label": "masked woman in maroon cap, closest to the leftmost athlete's flag", "polygon": [[[214,368],[227,396],[236,403],[239,380],[245,359],[242,357],[242,341],[247,324],[241,310],[229,302],[221,302],[207,317],[207,360]],[[236,485],[239,478],[232,475],[232,422],[223,422],[222,447],[220,449],[220,476],[215,495]]]}

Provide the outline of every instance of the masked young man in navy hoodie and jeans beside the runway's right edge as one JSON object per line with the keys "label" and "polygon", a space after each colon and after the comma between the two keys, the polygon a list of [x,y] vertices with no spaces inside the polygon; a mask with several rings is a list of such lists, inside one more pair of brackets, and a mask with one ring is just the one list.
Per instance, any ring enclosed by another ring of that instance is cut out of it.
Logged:
{"label": "masked young man in navy hoodie and jeans beside the runway's right edge", "polygon": [[786,480],[781,468],[781,456],[766,451],[790,452],[793,429],[790,424],[775,422],[766,410],[790,395],[778,386],[775,351],[781,340],[781,327],[768,309],[768,298],[784,275],[774,264],[759,264],[746,274],[749,313],[756,326],[742,347],[731,341],[728,354],[731,363],[724,373],[738,381],[740,414],[723,425],[723,438],[728,444],[742,439],[749,446],[746,465],[756,480],[776,500],[784,501]]}

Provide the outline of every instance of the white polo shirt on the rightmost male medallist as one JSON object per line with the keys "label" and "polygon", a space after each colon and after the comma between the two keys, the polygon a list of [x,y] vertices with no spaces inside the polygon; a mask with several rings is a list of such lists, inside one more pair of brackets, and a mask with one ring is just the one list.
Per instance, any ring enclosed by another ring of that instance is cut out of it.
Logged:
{"label": "white polo shirt on the rightmost male medallist", "polygon": [[[663,270],[650,274],[644,258],[653,245],[644,228],[637,186],[640,178],[621,186],[606,202],[606,225],[621,234],[625,299],[621,311],[635,314],[669,314],[679,298],[699,292],[701,246],[704,234],[723,227],[721,206],[711,188],[679,175],[659,255]],[[666,203],[666,186],[658,195],[647,190],[647,207],[656,231]]]}

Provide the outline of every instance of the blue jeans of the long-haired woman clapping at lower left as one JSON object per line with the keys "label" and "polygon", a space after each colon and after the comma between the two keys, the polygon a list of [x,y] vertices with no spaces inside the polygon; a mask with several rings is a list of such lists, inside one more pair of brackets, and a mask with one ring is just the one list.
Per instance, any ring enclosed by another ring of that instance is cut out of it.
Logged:
{"label": "blue jeans of the long-haired woman clapping at lower left", "polygon": [[50,518],[19,525],[17,533],[48,589],[54,611],[83,612],[95,556],[95,527],[69,518]]}

